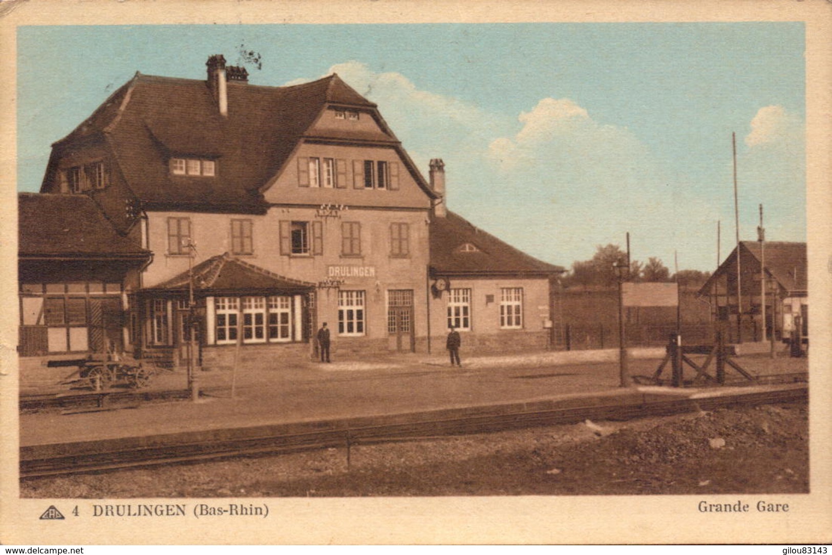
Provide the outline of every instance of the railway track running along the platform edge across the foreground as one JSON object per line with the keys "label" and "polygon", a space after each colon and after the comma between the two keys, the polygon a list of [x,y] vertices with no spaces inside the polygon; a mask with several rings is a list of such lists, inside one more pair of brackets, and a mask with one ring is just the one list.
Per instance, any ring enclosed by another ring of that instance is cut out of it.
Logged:
{"label": "railway track running along the platform edge across the foreground", "polygon": [[[750,393],[717,394],[669,400],[636,400],[626,403],[595,404],[567,408],[493,410],[486,414],[471,414],[471,409],[456,412],[438,411],[379,418],[344,419],[332,423],[295,424],[276,433],[255,437],[227,437],[198,441],[182,440],[164,445],[107,448],[118,442],[100,442],[101,450],[94,452],[79,448],[78,444],[56,445],[55,454],[38,456],[21,449],[20,477],[36,478],[72,473],[95,473],[107,470],[147,467],[158,464],[186,463],[217,458],[235,458],[300,450],[343,447],[357,444],[378,444],[392,441],[429,439],[461,434],[481,434],[508,429],[531,428],[552,424],[574,424],[586,419],[624,420],[645,416],[678,414],[691,410],[713,410],[736,405],[775,404],[808,399],[808,387],[789,387]],[[518,405],[522,407],[523,405]],[[397,421],[399,420],[399,421]],[[401,421],[404,420],[404,421]],[[243,429],[245,430],[245,429]],[[220,434],[221,436],[222,434]],[[96,443],[96,442],[92,442]],[[75,451],[73,452],[73,449]]]}

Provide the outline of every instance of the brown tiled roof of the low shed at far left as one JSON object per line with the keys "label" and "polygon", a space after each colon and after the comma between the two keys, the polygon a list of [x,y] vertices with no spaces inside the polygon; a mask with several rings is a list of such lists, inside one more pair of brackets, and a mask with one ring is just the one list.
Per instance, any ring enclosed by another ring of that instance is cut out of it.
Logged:
{"label": "brown tiled roof of the low shed at far left", "polygon": [[126,257],[150,255],[116,233],[88,196],[19,193],[18,243],[21,257]]}

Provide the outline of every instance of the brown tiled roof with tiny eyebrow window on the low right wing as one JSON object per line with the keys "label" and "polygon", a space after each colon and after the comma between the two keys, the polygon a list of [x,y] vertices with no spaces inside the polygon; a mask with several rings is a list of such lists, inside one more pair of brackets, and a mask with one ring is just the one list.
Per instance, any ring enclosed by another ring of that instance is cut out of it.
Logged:
{"label": "brown tiled roof with tiny eyebrow window on the low right wing", "polygon": [[[478,250],[462,251],[464,245]],[[430,223],[430,265],[434,275],[529,275],[561,274],[562,266],[548,264],[515,249],[462,216],[448,212]]]}

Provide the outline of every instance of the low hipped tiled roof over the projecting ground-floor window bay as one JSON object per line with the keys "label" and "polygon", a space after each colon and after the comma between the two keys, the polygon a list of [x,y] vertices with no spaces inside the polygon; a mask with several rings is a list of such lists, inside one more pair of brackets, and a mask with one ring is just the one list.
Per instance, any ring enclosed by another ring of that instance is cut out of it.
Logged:
{"label": "low hipped tiled roof over the projecting ground-floor window bay", "polygon": [[[235,258],[227,252],[212,256],[194,266],[194,291],[203,295],[219,293],[245,293],[250,291],[280,291],[304,293],[314,284],[292,280],[269,270]],[[190,275],[187,271],[145,290],[188,290]]]}

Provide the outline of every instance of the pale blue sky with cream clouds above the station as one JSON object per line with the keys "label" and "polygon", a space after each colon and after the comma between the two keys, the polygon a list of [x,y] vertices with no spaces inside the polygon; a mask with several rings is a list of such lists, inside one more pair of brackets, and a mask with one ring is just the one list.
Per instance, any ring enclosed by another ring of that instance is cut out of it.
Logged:
{"label": "pale blue sky with cream clouds above the station", "polygon": [[713,270],[740,235],[805,240],[802,23],[533,23],[20,27],[18,190],[50,144],[136,72],[205,78],[210,54],[282,86],[338,72],[423,174],[443,158],[448,206],[569,266],[625,245]]}

